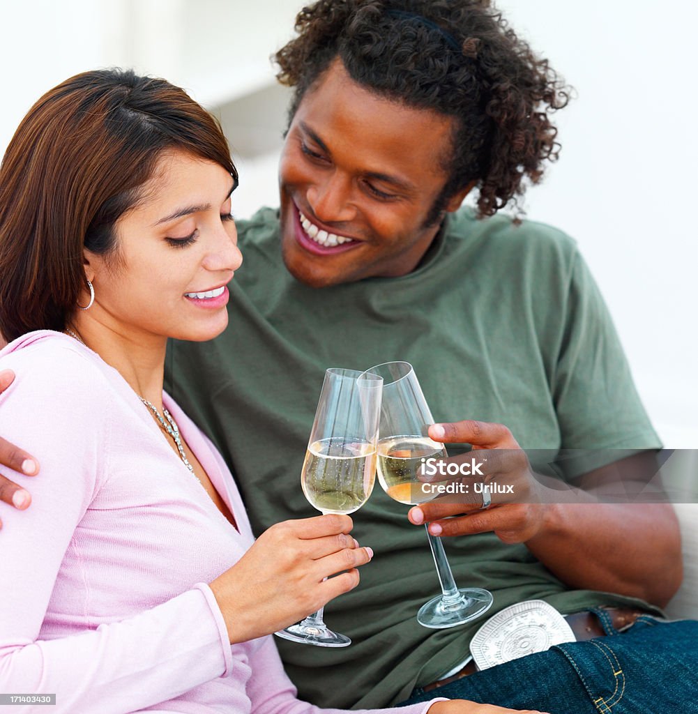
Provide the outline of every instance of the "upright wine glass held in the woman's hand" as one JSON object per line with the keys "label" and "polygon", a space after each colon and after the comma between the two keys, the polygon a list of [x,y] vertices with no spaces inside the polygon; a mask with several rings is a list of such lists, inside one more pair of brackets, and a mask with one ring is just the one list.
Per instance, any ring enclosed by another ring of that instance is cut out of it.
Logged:
{"label": "upright wine glass held in the woman's hand", "polygon": [[[328,369],[310,430],[300,486],[325,513],[353,513],[368,501],[375,482],[376,444],[383,378],[350,369]],[[350,638],[330,630],[323,610],[275,633],[318,647],[346,647]]]}

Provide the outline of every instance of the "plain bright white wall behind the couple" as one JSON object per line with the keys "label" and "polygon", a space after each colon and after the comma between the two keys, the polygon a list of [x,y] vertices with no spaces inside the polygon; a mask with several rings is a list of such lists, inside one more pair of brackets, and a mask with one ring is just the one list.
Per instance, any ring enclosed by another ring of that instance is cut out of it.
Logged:
{"label": "plain bright white wall behind the couple", "polygon": [[[273,81],[268,56],[290,36],[300,4],[1,0],[0,151],[40,94],[97,66],[136,66],[185,86],[211,109],[235,106]],[[558,115],[562,159],[530,191],[528,215],[577,238],[664,441],[698,448],[698,231],[691,208],[698,188],[698,5],[499,6],[578,95]],[[238,215],[276,203],[275,151],[238,164]]]}

